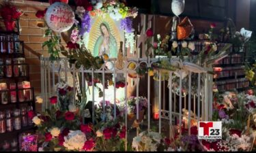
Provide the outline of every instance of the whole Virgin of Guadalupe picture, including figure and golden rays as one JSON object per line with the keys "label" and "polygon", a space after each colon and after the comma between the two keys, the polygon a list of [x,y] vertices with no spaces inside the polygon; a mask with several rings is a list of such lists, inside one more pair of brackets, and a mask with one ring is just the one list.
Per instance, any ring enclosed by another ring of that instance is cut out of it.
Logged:
{"label": "whole Virgin of Guadalupe picture, including figure and golden rays", "polygon": [[94,56],[108,54],[109,58],[117,58],[119,42],[124,42],[124,31],[119,27],[120,20],[113,20],[108,14],[91,18],[91,29],[84,35],[85,47]]}

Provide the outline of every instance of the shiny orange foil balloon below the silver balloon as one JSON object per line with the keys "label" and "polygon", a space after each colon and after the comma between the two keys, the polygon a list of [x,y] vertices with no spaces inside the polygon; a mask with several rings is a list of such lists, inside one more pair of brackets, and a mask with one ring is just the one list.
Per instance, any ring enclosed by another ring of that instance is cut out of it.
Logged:
{"label": "shiny orange foil balloon below the silver balloon", "polygon": [[177,25],[177,39],[186,39],[192,32],[193,25],[188,17],[184,18],[182,22]]}

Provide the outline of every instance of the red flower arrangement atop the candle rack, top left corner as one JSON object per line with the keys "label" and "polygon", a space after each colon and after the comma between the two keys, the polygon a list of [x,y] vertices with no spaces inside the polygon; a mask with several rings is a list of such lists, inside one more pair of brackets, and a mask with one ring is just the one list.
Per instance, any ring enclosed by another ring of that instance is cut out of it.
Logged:
{"label": "red flower arrangement atop the candle rack, top left corner", "polygon": [[20,10],[15,7],[11,1],[3,1],[0,8],[1,17],[4,20],[6,31],[13,31],[15,27],[15,20],[20,18],[23,14]]}

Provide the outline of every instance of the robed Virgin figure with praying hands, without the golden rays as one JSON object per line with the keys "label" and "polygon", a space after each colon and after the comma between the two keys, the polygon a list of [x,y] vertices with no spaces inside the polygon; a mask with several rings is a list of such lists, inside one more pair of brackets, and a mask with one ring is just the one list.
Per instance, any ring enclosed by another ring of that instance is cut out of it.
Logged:
{"label": "robed Virgin figure with praying hands, without the golden rays", "polygon": [[108,54],[109,58],[117,58],[117,41],[111,35],[109,24],[102,22],[100,24],[100,37],[94,45],[94,56]]}

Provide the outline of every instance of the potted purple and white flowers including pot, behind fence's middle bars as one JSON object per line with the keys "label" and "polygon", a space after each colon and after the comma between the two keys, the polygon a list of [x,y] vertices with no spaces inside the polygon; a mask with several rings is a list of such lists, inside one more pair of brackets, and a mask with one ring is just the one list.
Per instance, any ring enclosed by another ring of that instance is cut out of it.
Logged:
{"label": "potted purple and white flowers including pot, behind fence's middle bars", "polygon": [[[145,97],[138,97],[139,103],[139,122],[143,120],[145,110],[147,109],[147,99]],[[132,120],[137,114],[137,97],[128,98],[128,119]]]}

